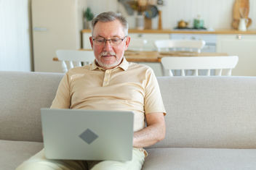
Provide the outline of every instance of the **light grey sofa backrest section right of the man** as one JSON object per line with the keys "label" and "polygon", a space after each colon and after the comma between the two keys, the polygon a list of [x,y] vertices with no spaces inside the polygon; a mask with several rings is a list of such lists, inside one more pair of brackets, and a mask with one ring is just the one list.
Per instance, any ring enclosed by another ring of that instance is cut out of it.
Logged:
{"label": "light grey sofa backrest section right of the man", "polygon": [[256,77],[158,77],[167,135],[151,148],[256,148]]}

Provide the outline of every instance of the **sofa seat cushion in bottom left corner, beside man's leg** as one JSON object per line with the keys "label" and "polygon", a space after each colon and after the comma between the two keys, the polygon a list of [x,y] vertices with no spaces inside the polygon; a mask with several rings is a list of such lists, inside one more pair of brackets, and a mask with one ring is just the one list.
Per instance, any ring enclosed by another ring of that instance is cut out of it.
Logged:
{"label": "sofa seat cushion in bottom left corner, beside man's leg", "polygon": [[20,163],[38,153],[43,147],[43,143],[0,140],[0,169],[15,169]]}

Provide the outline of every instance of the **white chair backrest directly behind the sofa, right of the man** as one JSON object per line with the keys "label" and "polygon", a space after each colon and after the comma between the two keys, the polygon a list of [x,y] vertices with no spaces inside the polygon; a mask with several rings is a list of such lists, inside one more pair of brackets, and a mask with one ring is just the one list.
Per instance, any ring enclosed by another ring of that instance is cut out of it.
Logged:
{"label": "white chair backrest directly behind the sofa, right of the man", "polygon": [[161,59],[164,69],[169,70],[169,76],[173,76],[172,70],[180,69],[181,76],[185,76],[185,70],[192,69],[193,75],[199,75],[199,69],[206,69],[207,76],[210,76],[211,69],[215,75],[222,75],[223,69],[230,76],[231,71],[239,61],[238,56],[166,56]]}

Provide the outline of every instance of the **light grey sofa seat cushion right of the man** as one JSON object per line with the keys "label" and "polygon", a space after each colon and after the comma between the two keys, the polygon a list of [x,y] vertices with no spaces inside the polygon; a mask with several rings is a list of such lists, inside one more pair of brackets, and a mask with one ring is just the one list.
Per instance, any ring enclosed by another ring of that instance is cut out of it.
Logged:
{"label": "light grey sofa seat cushion right of the man", "polygon": [[256,169],[256,149],[150,148],[145,170]]}

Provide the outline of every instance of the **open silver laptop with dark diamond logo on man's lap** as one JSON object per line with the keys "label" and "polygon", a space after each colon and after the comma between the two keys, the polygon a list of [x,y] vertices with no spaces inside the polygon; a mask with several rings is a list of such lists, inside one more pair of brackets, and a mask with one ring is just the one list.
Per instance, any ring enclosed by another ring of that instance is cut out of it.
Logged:
{"label": "open silver laptop with dark diamond logo on man's lap", "polygon": [[132,111],[41,109],[45,156],[69,160],[132,160]]}

